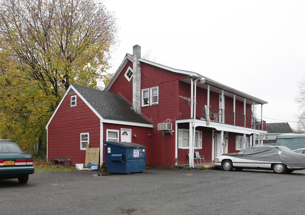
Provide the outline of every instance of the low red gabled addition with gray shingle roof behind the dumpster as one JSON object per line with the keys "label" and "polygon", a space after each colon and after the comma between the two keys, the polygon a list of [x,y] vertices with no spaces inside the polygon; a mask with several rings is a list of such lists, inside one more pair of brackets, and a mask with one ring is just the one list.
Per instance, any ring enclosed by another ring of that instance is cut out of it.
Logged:
{"label": "low red gabled addition with gray shingle roof behind the dumpster", "polygon": [[152,123],[119,94],[71,84],[46,126],[47,158],[84,164],[88,143],[100,147],[102,163],[106,160],[103,140],[137,142],[137,138],[147,147],[149,165],[151,128]]}

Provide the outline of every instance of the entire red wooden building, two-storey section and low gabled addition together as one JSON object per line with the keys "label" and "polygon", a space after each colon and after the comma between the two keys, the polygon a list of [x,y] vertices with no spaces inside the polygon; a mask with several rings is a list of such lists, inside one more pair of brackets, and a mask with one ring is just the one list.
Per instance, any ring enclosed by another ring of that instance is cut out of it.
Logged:
{"label": "entire red wooden building, two-storey section and low gabled addition together", "polygon": [[[253,134],[266,133],[265,122],[253,117],[254,105],[262,107],[266,101],[140,55],[138,45],[133,55],[126,54],[105,90],[99,92],[112,92],[109,98],[96,98],[99,90],[69,87],[47,125],[48,159],[63,156],[72,163],[84,162],[80,138],[89,133],[90,147],[101,147],[102,162],[107,132],[120,131],[116,140],[124,141],[122,134],[130,129],[130,141],[147,147],[148,165],[186,163],[188,151],[191,157],[199,151],[205,162],[213,162],[216,156],[248,147]],[[91,90],[96,94],[88,93]],[[120,106],[109,102],[113,95],[120,98]],[[73,96],[77,106],[72,106]],[[105,108],[111,114],[102,112]],[[125,118],[119,108],[131,110],[136,117]]]}

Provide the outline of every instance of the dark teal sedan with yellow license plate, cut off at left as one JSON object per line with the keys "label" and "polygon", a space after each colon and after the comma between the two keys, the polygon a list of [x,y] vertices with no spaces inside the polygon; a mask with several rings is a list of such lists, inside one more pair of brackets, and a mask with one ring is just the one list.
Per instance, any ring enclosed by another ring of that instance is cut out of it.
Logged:
{"label": "dark teal sedan with yellow license plate, cut off at left", "polygon": [[25,184],[34,169],[32,155],[23,154],[16,143],[0,141],[0,179],[17,178]]}

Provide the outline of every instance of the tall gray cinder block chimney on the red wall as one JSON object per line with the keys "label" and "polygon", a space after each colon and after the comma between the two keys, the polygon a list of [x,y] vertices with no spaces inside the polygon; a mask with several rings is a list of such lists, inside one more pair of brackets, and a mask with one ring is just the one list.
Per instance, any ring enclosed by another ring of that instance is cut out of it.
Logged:
{"label": "tall gray cinder block chimney on the red wall", "polygon": [[132,106],[137,113],[141,113],[141,46],[135,45],[133,47],[132,59]]}

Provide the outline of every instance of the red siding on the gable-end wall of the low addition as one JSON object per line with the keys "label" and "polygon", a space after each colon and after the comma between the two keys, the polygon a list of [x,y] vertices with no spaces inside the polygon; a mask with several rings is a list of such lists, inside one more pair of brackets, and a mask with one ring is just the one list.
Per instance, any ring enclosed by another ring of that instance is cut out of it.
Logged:
{"label": "red siding on the gable-end wall of the low addition", "polygon": [[80,134],[89,133],[90,147],[100,147],[100,120],[77,96],[77,106],[70,107],[70,97],[63,100],[48,126],[48,160],[69,158],[71,163],[84,163],[85,150],[80,150]]}

